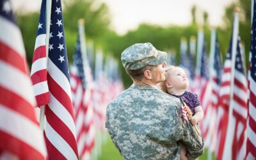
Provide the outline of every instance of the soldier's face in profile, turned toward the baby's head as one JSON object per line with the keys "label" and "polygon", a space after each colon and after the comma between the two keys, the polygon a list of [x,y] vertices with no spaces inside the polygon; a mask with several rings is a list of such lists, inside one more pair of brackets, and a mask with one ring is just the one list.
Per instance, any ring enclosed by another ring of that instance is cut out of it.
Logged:
{"label": "soldier's face in profile, turned toward the baby's head", "polygon": [[155,84],[165,80],[165,76],[164,76],[165,66],[166,66],[166,62],[164,61],[164,63],[162,63],[161,65],[157,65],[153,67],[152,81],[154,81]]}

